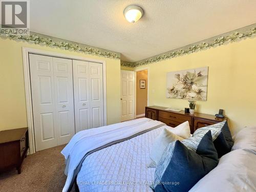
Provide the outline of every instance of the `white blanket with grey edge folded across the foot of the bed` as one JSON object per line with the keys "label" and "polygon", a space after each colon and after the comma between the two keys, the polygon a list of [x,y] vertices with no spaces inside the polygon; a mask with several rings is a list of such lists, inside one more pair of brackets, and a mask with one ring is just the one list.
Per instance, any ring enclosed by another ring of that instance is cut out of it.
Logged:
{"label": "white blanket with grey edge folded across the foot of the bed", "polygon": [[71,190],[83,161],[90,154],[163,125],[165,124],[160,121],[141,118],[78,132],[61,151],[61,154],[65,156],[66,170],[68,170],[66,171],[68,177],[62,192]]}

